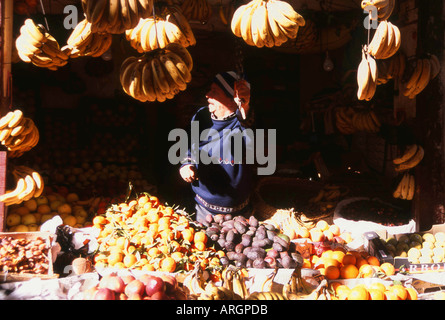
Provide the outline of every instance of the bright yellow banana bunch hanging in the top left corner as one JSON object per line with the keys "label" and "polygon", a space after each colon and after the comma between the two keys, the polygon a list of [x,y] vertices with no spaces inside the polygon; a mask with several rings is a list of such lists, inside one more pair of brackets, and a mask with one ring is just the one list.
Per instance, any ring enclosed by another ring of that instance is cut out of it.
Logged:
{"label": "bright yellow banana bunch hanging in the top left corner", "polygon": [[68,63],[68,55],[42,25],[26,19],[15,41],[20,59],[37,67],[57,70]]}

